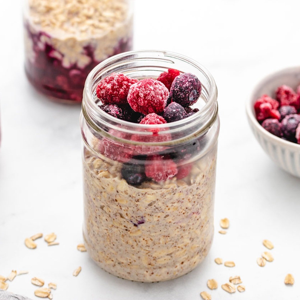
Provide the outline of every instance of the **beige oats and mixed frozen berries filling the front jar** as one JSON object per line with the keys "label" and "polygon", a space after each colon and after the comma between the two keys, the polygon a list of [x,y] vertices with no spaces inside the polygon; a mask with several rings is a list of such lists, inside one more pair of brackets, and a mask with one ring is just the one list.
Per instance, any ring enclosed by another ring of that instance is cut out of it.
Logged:
{"label": "beige oats and mixed frozen berries filling the front jar", "polygon": [[201,94],[196,76],[175,71],[158,77],[164,82],[113,73],[97,87],[103,113],[151,134],[101,136],[82,125],[85,246],[101,268],[130,280],[186,274],[213,239],[218,123],[180,143],[167,133],[168,123],[197,113],[190,105]]}

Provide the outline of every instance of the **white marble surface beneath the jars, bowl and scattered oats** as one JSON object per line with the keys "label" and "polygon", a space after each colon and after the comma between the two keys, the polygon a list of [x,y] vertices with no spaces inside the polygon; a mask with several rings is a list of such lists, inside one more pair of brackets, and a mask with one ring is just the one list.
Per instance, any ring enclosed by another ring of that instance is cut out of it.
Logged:
{"label": "white marble surface beneath the jars, bowl and scattered oats", "polygon": [[[212,299],[300,299],[300,179],[276,167],[256,142],[244,103],[253,86],[274,70],[299,64],[300,2],[279,0],[137,0],[135,49],[166,49],[204,64],[219,89],[221,130],[215,199],[215,237],[205,261],[191,273],[162,283],[122,280],[99,269],[76,245],[82,242],[79,106],[48,101],[23,71],[19,0],[1,1],[0,274],[29,270],[9,290],[35,298],[34,276],[53,281],[55,300],[193,300],[240,275],[246,292]],[[220,235],[219,220],[230,219]],[[23,241],[56,232],[59,246]],[[262,240],[275,247],[274,262],[256,264]],[[235,268],[214,263],[234,260]],[[73,270],[82,266],[78,277]],[[295,285],[283,283],[287,273]]]}

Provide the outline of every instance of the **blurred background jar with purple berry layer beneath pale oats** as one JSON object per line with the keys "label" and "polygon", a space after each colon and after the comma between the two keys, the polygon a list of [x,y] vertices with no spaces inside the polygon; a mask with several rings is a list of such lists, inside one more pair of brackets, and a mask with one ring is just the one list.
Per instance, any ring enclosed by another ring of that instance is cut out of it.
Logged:
{"label": "blurred background jar with purple berry layer beneath pale oats", "polygon": [[56,101],[80,103],[88,73],[132,49],[133,0],[25,0],[25,71]]}

